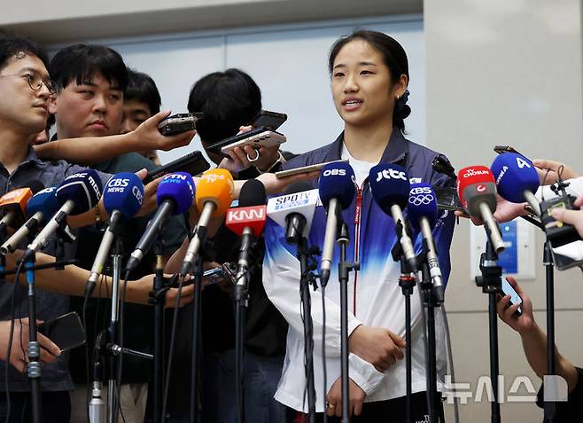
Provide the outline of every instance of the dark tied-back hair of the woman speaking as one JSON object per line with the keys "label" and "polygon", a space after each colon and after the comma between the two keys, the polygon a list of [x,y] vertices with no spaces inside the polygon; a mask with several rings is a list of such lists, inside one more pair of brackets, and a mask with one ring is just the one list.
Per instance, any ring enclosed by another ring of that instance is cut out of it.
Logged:
{"label": "dark tied-back hair of the woman speaking", "polygon": [[[400,43],[393,37],[377,31],[359,30],[354,31],[351,35],[339,38],[330,49],[330,56],[328,58],[328,70],[332,73],[334,67],[334,60],[342,48],[354,40],[362,40],[369,43],[382,56],[383,61],[389,69],[391,74],[391,81],[397,82],[401,74],[407,75],[409,79],[409,67],[407,60],[407,53],[400,45]],[[405,122],[403,121],[410,113],[411,108],[407,106],[408,91],[401,96],[396,102],[393,111],[393,126],[400,130],[405,129]]]}

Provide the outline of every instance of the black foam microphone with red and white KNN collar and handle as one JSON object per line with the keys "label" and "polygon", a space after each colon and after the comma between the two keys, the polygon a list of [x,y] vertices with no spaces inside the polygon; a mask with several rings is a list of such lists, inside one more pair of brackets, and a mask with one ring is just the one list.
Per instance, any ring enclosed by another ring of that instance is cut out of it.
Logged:
{"label": "black foam microphone with red and white KNN collar and handle", "polygon": [[237,301],[243,299],[253,241],[260,237],[265,227],[266,200],[265,186],[257,179],[249,179],[241,187],[238,206],[229,208],[227,211],[225,226],[241,237],[237,262],[237,285],[235,286],[235,299]]}

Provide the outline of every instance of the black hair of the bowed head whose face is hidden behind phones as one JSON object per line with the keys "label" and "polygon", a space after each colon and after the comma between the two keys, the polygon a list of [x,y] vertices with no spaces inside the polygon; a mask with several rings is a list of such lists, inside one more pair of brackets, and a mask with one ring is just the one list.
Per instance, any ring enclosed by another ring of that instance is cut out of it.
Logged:
{"label": "black hair of the bowed head whose face is hidden behind phones", "polygon": [[214,72],[195,82],[188,99],[190,113],[203,112],[198,135],[208,143],[237,134],[261,110],[261,90],[239,69]]}

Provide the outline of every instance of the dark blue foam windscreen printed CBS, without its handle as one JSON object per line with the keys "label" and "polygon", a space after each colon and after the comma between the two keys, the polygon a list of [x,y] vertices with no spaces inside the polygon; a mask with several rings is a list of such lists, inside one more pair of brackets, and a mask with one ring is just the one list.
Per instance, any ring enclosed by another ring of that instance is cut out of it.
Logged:
{"label": "dark blue foam windscreen printed CBS, without its handle", "polygon": [[136,215],[144,202],[144,184],[132,172],[120,172],[105,184],[104,207],[108,215],[117,210],[126,219]]}

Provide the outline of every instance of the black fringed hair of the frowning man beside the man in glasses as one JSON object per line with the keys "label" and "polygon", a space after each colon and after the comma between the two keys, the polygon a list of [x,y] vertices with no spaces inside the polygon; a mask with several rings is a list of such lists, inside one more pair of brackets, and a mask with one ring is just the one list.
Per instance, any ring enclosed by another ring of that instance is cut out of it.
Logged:
{"label": "black fringed hair of the frowning man beside the man in glasses", "polygon": [[105,45],[74,44],[59,50],[51,59],[49,73],[59,90],[71,82],[88,82],[95,74],[101,74],[121,90],[128,86],[128,69],[120,53]]}

